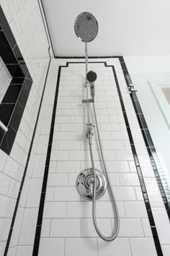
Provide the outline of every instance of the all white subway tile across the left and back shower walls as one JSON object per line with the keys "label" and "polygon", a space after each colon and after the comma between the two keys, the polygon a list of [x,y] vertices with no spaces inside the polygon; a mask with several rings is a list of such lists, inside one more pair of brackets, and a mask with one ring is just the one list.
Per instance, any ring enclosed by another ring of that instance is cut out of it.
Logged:
{"label": "all white subway tile across the left and back shower walls", "polygon": [[[33,80],[12,152],[10,156],[3,151],[0,152],[0,255],[3,255],[35,127],[49,58],[48,40],[38,2],[1,0],[1,7],[4,9]],[[66,65],[66,61],[82,62],[84,59],[52,59],[51,61],[8,255],[32,255],[58,67]],[[170,230],[169,220],[138,127],[135,111],[126,90],[120,62],[118,59],[92,59],[92,61],[107,61],[108,65],[115,65],[158,236],[160,236],[164,255],[169,255],[170,243],[167,240]],[[156,256],[112,68],[95,63],[89,64],[89,69],[94,70],[98,75],[95,83],[97,116],[107,168],[120,214],[120,233],[114,242],[102,241],[93,226],[91,202],[86,202],[76,192],[76,177],[79,171],[91,166],[91,161],[85,135],[86,106],[81,103],[86,96],[85,64],[69,64],[69,67],[61,69],[38,255]],[[96,167],[102,170],[95,128],[93,147]],[[156,191],[156,197],[154,197],[154,191]],[[115,228],[114,217],[106,193],[97,202],[97,223],[106,236],[109,236]],[[164,237],[165,229],[166,237]]]}

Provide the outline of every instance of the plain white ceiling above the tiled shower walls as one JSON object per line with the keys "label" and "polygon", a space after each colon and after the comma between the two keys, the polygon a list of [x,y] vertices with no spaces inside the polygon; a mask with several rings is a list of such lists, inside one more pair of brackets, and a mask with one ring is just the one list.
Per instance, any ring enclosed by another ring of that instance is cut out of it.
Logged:
{"label": "plain white ceiling above the tiled shower walls", "polygon": [[170,54],[169,0],[42,0],[55,56],[84,56],[74,33],[81,12],[91,12],[99,33],[89,56]]}

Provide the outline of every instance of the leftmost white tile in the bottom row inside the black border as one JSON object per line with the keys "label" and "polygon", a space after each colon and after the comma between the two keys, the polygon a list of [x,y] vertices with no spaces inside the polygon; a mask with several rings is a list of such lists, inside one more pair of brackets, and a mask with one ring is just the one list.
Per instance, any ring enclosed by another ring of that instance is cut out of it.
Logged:
{"label": "leftmost white tile in the bottom row inside the black border", "polygon": [[38,256],[64,256],[63,238],[41,238]]}

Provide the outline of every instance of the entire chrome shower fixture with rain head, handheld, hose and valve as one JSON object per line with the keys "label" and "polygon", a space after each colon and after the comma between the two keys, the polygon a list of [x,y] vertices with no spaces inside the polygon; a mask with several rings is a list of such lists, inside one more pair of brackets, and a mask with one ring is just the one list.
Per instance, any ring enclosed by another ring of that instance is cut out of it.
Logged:
{"label": "entire chrome shower fixture with rain head, handheld, hose and valve", "polygon": [[[92,216],[94,227],[97,231],[97,234],[106,242],[113,241],[118,234],[120,227],[119,213],[117,210],[117,204],[115,202],[115,196],[112,191],[112,186],[109,181],[109,175],[107,172],[107,166],[104,161],[104,153],[102,150],[102,142],[99,135],[99,126],[97,122],[97,114],[96,108],[94,104],[94,82],[97,80],[97,74],[93,71],[88,72],[88,53],[87,53],[87,43],[91,42],[96,38],[98,33],[98,23],[96,18],[89,12],[82,12],[76,17],[74,30],[77,37],[85,43],[85,58],[86,58],[86,79],[85,79],[85,87],[86,87],[86,99],[82,100],[82,103],[86,103],[87,108],[87,123],[86,123],[86,138],[89,140],[89,150],[91,155],[91,168],[86,168],[80,172],[79,176],[76,179],[76,188],[81,197],[84,197],[86,200],[91,200],[92,203]],[[89,91],[91,94],[91,98],[89,98]],[[94,125],[91,122],[90,116],[90,105],[92,103],[95,126],[97,129],[97,137],[99,141],[99,150],[102,156],[102,163],[104,166],[104,172],[99,171],[95,168],[94,163],[94,155],[92,150],[92,139],[93,139],[93,128]],[[112,236],[104,236],[97,226],[97,218],[96,218],[96,201],[104,195],[106,190],[108,189],[108,194],[112,203],[112,209],[115,213],[115,231],[113,231]]]}

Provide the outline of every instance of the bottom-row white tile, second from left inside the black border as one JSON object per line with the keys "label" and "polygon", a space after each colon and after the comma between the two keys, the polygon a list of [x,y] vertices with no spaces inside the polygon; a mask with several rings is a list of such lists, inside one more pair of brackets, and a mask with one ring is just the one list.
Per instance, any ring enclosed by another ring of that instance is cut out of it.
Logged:
{"label": "bottom-row white tile, second from left inside the black border", "polygon": [[97,256],[97,239],[66,238],[65,256]]}

